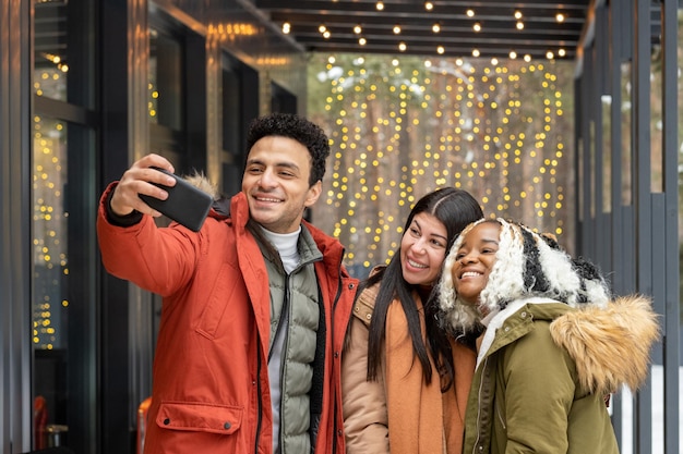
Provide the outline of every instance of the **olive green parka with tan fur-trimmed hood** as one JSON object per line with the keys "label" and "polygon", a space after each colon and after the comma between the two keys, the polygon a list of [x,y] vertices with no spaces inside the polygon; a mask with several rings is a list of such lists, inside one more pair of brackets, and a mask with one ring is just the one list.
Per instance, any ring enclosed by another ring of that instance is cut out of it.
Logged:
{"label": "olive green parka with tan fur-trimmed hood", "polygon": [[616,454],[606,396],[635,390],[658,336],[650,302],[516,300],[479,339],[464,454]]}

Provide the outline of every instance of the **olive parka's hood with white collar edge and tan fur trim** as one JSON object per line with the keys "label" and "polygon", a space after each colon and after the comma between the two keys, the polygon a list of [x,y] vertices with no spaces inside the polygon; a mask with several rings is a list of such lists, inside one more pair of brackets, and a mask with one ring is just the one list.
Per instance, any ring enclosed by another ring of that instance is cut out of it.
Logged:
{"label": "olive parka's hood with white collar edge and tan fur trim", "polygon": [[489,349],[526,335],[541,321],[550,323],[553,342],[574,359],[579,384],[587,393],[609,394],[622,384],[635,391],[647,378],[659,324],[650,299],[642,295],[619,297],[606,307],[575,309],[543,298],[512,302],[490,320],[477,361]]}

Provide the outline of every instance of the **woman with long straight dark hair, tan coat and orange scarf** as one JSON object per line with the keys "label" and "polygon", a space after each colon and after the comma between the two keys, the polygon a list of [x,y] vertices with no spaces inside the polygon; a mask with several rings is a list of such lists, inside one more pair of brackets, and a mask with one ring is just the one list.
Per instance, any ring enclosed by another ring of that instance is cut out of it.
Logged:
{"label": "woman with long straight dark hair, tan coat and orange scarf", "polygon": [[482,217],[466,191],[426,195],[388,265],[361,283],[342,360],[348,454],[460,453],[475,353],[440,329],[430,296],[456,236]]}

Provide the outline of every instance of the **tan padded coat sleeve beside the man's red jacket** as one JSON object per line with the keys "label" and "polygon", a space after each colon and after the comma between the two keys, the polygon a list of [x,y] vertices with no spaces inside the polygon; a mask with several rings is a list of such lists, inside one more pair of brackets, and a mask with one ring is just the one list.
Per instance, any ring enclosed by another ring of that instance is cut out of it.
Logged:
{"label": "tan padded coat sleeve beside the man's red jacket", "polygon": [[[357,302],[358,307],[359,303]],[[366,316],[371,311],[366,311]],[[388,427],[384,378],[368,381],[368,327],[354,309],[342,357],[342,395],[347,454],[388,454]]]}

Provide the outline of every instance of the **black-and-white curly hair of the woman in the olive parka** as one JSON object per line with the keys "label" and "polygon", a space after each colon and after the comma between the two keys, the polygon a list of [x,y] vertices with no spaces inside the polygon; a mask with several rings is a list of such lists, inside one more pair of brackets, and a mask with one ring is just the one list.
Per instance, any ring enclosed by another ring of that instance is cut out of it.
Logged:
{"label": "black-and-white curly hair of the woman in the olive parka", "polygon": [[451,271],[463,238],[482,222],[501,225],[496,260],[479,295],[479,307],[487,314],[504,309],[513,300],[537,296],[574,307],[580,304],[607,306],[610,292],[599,269],[587,260],[572,258],[554,236],[539,234],[514,221],[482,219],[463,230],[444,261],[438,292],[446,329],[467,333],[479,328],[481,314],[477,307],[458,298]]}

